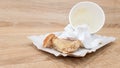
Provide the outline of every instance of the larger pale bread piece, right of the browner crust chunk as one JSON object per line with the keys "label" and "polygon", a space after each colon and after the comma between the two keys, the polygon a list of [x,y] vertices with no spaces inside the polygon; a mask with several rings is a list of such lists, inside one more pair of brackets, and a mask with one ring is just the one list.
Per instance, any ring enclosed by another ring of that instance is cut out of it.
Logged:
{"label": "larger pale bread piece, right of the browner crust chunk", "polygon": [[62,53],[71,53],[77,51],[82,46],[79,40],[69,40],[69,39],[53,39],[54,49]]}

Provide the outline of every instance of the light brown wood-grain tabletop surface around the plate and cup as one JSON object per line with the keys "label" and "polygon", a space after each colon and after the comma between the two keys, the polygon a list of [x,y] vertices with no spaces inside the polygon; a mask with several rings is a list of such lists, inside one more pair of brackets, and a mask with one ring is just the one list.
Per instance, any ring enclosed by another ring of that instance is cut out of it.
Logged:
{"label": "light brown wood-grain tabletop surface around the plate and cup", "polygon": [[0,67],[120,68],[120,0],[88,0],[106,14],[105,26],[97,34],[117,39],[84,58],[55,57],[27,39],[63,30],[70,8],[80,1],[84,0],[0,0]]}

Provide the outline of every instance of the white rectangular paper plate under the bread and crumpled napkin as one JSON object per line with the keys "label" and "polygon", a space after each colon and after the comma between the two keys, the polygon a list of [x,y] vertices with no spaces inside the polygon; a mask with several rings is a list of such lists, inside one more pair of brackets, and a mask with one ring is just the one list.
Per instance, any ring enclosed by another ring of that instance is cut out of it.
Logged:
{"label": "white rectangular paper plate under the bread and crumpled napkin", "polygon": [[[60,35],[62,32],[56,32],[55,35]],[[29,36],[28,38],[33,42],[33,44],[42,51],[48,52],[50,54],[53,54],[55,56],[72,56],[72,57],[84,57],[87,53],[95,52],[97,49],[105,46],[106,44],[115,41],[114,37],[106,37],[106,36],[100,36],[100,35],[93,35],[92,37],[101,39],[101,44],[99,44],[96,47],[93,47],[92,49],[86,49],[86,48],[80,48],[78,51],[73,52],[71,54],[64,54],[61,53],[55,49],[52,48],[44,48],[43,47],[43,40],[48,34],[40,35],[40,36]]]}

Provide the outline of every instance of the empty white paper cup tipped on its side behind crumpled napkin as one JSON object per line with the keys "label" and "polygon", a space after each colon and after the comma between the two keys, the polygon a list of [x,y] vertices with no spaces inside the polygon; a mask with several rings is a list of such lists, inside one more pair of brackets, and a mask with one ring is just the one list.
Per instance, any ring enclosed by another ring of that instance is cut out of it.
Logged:
{"label": "empty white paper cup tipped on its side behind crumpled napkin", "polygon": [[69,13],[69,22],[73,28],[78,25],[88,25],[91,33],[99,31],[105,22],[102,8],[93,2],[79,2],[74,5]]}

